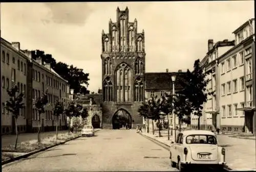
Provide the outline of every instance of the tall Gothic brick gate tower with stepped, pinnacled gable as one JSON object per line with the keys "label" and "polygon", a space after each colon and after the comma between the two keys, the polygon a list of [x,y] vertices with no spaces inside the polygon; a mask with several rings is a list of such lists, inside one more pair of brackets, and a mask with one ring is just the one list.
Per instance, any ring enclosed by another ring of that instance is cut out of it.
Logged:
{"label": "tall Gothic brick gate tower with stepped, pinnacled gable", "polygon": [[102,31],[102,127],[113,128],[119,114],[128,116],[130,127],[142,124],[138,108],[144,100],[144,30],[129,22],[129,9],[117,8],[117,21]]}

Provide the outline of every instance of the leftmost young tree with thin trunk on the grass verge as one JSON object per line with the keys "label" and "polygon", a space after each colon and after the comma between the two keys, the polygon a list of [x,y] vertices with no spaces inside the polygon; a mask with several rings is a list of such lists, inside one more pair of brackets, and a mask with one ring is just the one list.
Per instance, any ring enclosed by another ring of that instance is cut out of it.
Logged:
{"label": "leftmost young tree with thin trunk on the grass verge", "polygon": [[18,128],[17,128],[17,118],[19,116],[20,110],[25,108],[23,103],[24,93],[18,93],[18,87],[15,85],[12,89],[7,90],[8,95],[10,96],[9,101],[6,101],[6,108],[12,115],[15,117],[15,127],[16,127],[16,140],[15,140],[15,150],[17,148],[18,141]]}

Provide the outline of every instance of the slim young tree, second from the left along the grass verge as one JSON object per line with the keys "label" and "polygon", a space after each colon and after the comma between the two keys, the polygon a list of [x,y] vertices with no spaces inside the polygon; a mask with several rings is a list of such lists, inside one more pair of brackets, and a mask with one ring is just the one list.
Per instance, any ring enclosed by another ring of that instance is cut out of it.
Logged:
{"label": "slim young tree, second from the left along the grass verge", "polygon": [[45,113],[46,105],[48,104],[48,97],[47,97],[48,90],[46,92],[42,92],[42,96],[38,97],[38,99],[35,102],[35,108],[38,110],[39,113],[39,119],[38,119],[38,132],[37,132],[37,141],[38,144],[41,142],[40,140],[40,126],[41,126],[41,114]]}

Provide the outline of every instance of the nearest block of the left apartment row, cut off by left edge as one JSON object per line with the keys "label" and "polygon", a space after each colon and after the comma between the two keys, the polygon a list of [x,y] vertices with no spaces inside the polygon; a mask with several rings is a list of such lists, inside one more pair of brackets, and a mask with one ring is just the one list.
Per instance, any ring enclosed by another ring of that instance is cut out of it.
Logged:
{"label": "nearest block of the left apartment row, cut off by left edge", "polygon": [[[15,133],[15,118],[5,108],[6,101],[9,100],[7,89],[12,88],[14,84],[17,84],[19,92],[25,92],[27,94],[27,57],[19,52],[19,42],[8,42],[1,38],[1,96],[2,96],[2,133],[9,134]],[[27,104],[27,99],[23,102]],[[26,112],[25,107],[17,118],[18,131],[26,131]]]}

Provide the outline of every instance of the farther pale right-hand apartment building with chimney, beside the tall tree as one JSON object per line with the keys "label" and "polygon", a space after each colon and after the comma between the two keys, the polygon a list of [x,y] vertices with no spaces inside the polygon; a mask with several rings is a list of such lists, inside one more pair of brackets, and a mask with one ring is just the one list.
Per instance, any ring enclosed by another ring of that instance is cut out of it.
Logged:
{"label": "farther pale right-hand apartment building with chimney, beside the tall tree", "polygon": [[[214,40],[208,40],[208,52],[202,59],[200,65],[204,66],[205,71],[211,70],[210,75],[206,77],[209,83],[206,87],[206,92],[214,92],[213,95],[207,96],[207,102],[204,103],[204,110],[200,118],[200,129],[210,129],[213,127],[219,127],[219,91],[218,91],[218,63],[217,59],[222,56],[227,50],[234,46],[234,41],[218,41],[214,43]],[[213,124],[213,125],[212,125]],[[194,129],[198,128],[198,116],[191,114],[191,127]]]}

